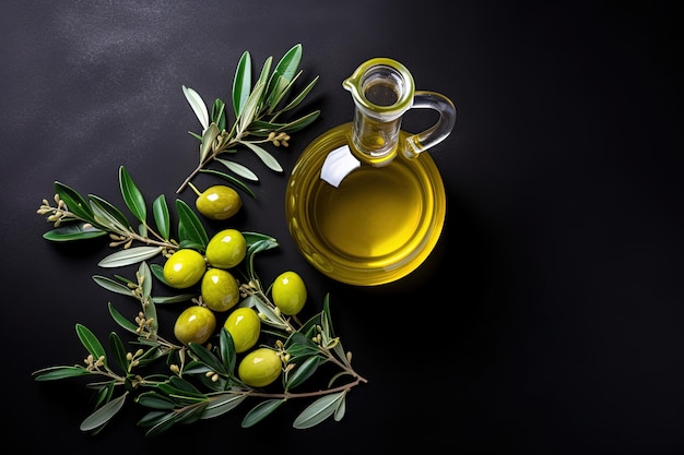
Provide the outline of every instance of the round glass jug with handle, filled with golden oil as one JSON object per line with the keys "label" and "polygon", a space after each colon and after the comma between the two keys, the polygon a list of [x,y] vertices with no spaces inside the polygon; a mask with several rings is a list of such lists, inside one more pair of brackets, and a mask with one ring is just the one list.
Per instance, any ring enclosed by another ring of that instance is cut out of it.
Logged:
{"label": "round glass jug with handle, filled with golden oil", "polygon": [[[456,108],[444,95],[415,91],[409,70],[388,58],[362,63],[342,86],[354,119],[304,149],[287,181],[285,216],[297,249],[321,273],[382,285],[417,268],[439,239],[446,195],[424,152],[450,134]],[[408,133],[401,120],[411,108],[439,118]]]}

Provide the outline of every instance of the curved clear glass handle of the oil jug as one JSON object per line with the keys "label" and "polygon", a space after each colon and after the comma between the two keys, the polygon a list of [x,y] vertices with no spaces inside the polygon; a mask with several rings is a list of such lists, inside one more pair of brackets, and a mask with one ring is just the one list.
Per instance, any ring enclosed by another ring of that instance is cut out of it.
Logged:
{"label": "curved clear glass handle of the oil jug", "polygon": [[447,139],[456,123],[456,107],[446,96],[428,91],[416,91],[412,109],[433,109],[439,112],[437,122],[422,133],[406,137],[404,155],[415,158],[421,152],[439,144]]}

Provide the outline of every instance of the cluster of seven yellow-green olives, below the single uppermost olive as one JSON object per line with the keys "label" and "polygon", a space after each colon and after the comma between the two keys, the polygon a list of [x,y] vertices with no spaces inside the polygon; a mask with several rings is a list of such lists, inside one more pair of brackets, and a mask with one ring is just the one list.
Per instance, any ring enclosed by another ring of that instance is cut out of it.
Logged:
{"label": "cluster of seven yellow-green olives, below the single uppermost olive", "polygon": [[[231,272],[247,253],[247,242],[237,229],[214,235],[202,255],[182,248],[164,264],[164,279],[177,289],[199,284],[203,304],[184,310],[174,325],[174,335],[182,344],[205,343],[216,330],[216,314],[227,313],[223,324],[238,354],[247,352],[238,366],[238,376],[250,386],[262,387],[274,382],[282,371],[280,356],[273,349],[258,348],[250,352],[261,334],[261,320],[252,308],[238,307],[239,283]],[[282,273],[271,287],[272,301],[285,315],[296,315],[306,302],[307,291],[295,272]]]}

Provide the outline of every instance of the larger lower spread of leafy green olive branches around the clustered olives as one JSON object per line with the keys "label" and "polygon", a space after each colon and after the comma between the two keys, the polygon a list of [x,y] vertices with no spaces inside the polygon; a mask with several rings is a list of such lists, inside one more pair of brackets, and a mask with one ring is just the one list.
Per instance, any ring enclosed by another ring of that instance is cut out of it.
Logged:
{"label": "larger lower spread of leafy green olive branches around the clustered olives", "polygon": [[[345,411],[349,391],[366,380],[352,368],[352,355],[342,347],[334,334],[330,316],[329,296],[323,300],[322,311],[300,324],[295,318],[283,315],[269,299],[270,287],[264,288],[256,273],[255,258],[258,253],[279,247],[278,240],[258,232],[243,232],[247,252],[239,270],[241,274],[238,307],[253,308],[269,326],[263,337],[278,351],[282,361],[281,388],[278,391],[255,388],[243,383],[236,375],[238,355],[231,334],[222,328],[214,334],[217,344],[178,345],[162,336],[157,320],[157,307],[194,301],[197,292],[153,296],[153,282],[166,284],[163,267],[149,264],[148,260],[169,250],[196,248],[205,251],[207,231],[190,207],[176,201],[178,215],[178,240],[170,237],[170,213],[163,195],[153,202],[153,219],[148,220],[143,194],[129,172],[119,168],[119,185],[123,201],[140,223],[132,227],[123,212],[102,197],[81,195],[71,187],[55,182],[56,205],[46,200],[38,209],[54,228],[44,237],[51,241],[74,241],[109,235],[109,243],[119,251],[103,259],[102,267],[120,267],[138,264],[134,279],[120,275],[114,278],[94,275],[101,287],[126,297],[134,298],[140,309],[133,320],[126,318],[111,302],[108,304],[113,320],[126,332],[134,335],[127,349],[117,332],[108,335],[108,352],[103,343],[83,324],[75,331],[87,355],[83,364],[56,366],[36,370],[36,381],[57,381],[87,376],[95,390],[94,411],[83,420],[81,430],[96,434],[118,415],[126,403],[133,402],[150,411],[138,422],[146,429],[146,435],[157,435],[174,424],[191,423],[215,418],[235,409],[248,398],[260,402],[247,411],[241,426],[251,427],[274,412],[285,402],[294,398],[316,398],[295,419],[293,427],[309,428],[332,417],[340,420]],[[142,246],[134,246],[137,243]],[[201,299],[201,298],[200,298]],[[161,362],[166,359],[166,362]],[[162,364],[161,364],[162,363]],[[298,392],[302,384],[315,376],[319,367],[330,363],[337,373],[325,388]],[[164,368],[164,366],[168,366]],[[148,373],[148,371],[150,371]],[[339,384],[342,376],[351,378]]]}

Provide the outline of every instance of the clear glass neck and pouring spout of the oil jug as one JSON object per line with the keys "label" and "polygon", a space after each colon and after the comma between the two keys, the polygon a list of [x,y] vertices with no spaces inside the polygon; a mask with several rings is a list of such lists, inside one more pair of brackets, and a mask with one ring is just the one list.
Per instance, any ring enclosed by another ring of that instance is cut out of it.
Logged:
{"label": "clear glass neck and pouring spout of the oil jug", "polygon": [[355,107],[352,153],[374,166],[389,164],[397,156],[402,116],[413,103],[413,76],[403,64],[376,58],[361,64],[342,86]]}

